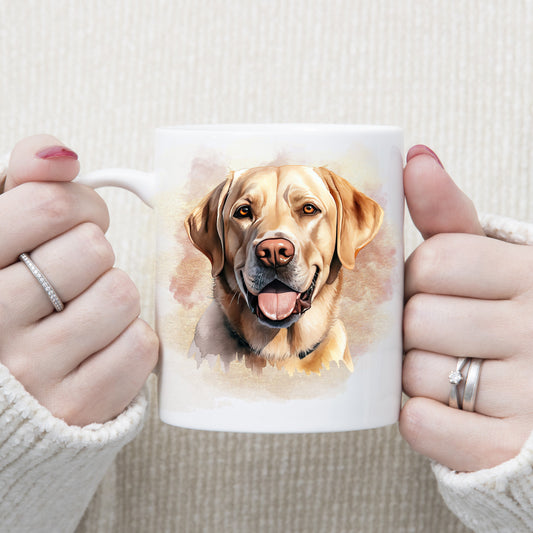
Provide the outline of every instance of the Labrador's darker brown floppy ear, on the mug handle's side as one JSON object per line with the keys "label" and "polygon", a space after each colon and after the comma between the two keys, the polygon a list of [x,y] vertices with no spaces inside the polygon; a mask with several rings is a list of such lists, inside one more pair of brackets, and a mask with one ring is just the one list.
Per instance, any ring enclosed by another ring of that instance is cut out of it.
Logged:
{"label": "Labrador's darker brown floppy ear, on the mug handle's side", "polygon": [[233,181],[233,172],[214,188],[185,220],[191,242],[211,261],[211,274],[216,277],[224,268],[224,220],[222,210]]}

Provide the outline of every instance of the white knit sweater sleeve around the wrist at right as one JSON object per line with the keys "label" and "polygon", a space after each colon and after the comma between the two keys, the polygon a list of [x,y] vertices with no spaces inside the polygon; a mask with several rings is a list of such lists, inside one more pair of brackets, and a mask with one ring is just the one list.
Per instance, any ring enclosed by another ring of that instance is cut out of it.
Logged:
{"label": "white knit sweater sleeve around the wrist at right", "polygon": [[[533,244],[533,224],[483,215],[489,237]],[[476,532],[533,531],[533,433],[520,453],[494,468],[457,473],[433,464],[439,491],[450,510]]]}

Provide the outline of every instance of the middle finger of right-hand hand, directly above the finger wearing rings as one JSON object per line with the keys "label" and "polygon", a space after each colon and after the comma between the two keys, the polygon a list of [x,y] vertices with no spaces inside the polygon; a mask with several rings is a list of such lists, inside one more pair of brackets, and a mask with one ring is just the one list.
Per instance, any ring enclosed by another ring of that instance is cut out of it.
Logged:
{"label": "middle finger of right-hand hand, directly above the finger wearing rings", "polygon": [[529,350],[515,302],[415,294],[404,309],[404,351],[506,359]]}

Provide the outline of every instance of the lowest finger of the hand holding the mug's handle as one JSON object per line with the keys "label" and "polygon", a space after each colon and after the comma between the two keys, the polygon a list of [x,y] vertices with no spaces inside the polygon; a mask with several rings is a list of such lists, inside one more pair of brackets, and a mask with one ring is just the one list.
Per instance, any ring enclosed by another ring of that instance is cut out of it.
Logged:
{"label": "lowest finger of the hand holding the mug's handle", "polygon": [[141,319],[113,343],[69,374],[50,410],[67,423],[84,426],[119,415],[141,390],[157,363],[159,342]]}

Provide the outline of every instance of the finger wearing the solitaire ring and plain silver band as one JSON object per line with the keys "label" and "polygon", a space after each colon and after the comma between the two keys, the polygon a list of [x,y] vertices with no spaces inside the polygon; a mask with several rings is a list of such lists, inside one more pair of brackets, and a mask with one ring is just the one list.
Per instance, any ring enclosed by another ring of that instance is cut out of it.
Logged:
{"label": "finger wearing the solitaire ring and plain silver band", "polygon": [[[510,418],[522,409],[529,410],[532,397],[529,391],[531,375],[519,363],[510,365],[505,361],[484,360],[479,375],[475,401],[476,413],[495,418]],[[457,358],[421,350],[410,350],[403,362],[402,381],[405,394],[436,400],[449,404],[451,384],[448,375],[457,367]],[[468,369],[461,372],[463,381],[459,384],[462,397]]]}

